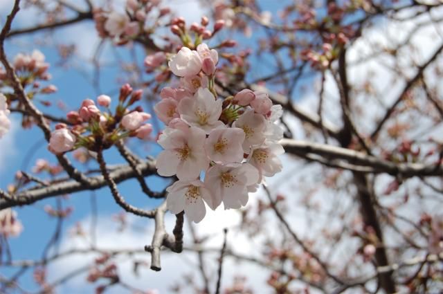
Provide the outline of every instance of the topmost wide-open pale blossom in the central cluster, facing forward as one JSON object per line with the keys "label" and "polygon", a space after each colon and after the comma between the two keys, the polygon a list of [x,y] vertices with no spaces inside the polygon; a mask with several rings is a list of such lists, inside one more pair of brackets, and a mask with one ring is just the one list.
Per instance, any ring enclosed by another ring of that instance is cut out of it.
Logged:
{"label": "topmost wide-open pale blossom in the central cluster, facing forward", "polygon": [[215,100],[213,93],[208,89],[200,88],[194,98],[183,98],[179,103],[181,119],[189,125],[199,127],[209,134],[211,129],[221,127],[221,100]]}

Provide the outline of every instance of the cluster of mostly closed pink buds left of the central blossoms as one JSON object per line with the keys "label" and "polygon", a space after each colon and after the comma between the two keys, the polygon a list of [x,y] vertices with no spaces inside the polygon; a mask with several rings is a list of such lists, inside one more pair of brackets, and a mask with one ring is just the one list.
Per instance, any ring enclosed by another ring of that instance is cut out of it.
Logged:
{"label": "cluster of mostly closed pink buds left of the central blossoms", "polygon": [[[141,107],[129,109],[141,100],[142,95],[141,90],[133,91],[129,84],[123,85],[115,113],[109,108],[111,98],[107,95],[98,96],[97,104],[90,99],[83,100],[78,111],[70,111],[66,115],[71,126],[61,123],[55,126],[48,149],[55,154],[78,147],[98,151],[107,149],[116,141],[127,137],[149,140],[152,125],[145,122],[151,115],[143,112]],[[98,107],[105,111],[100,111]]]}

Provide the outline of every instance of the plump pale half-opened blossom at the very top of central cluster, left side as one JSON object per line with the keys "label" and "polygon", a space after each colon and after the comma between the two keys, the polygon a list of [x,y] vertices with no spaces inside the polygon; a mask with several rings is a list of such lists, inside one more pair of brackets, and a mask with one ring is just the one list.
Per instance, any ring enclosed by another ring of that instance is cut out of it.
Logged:
{"label": "plump pale half-opened blossom at the very top of central cluster, left side", "polygon": [[169,67],[174,75],[179,77],[192,77],[201,71],[201,59],[199,53],[182,47],[177,55],[174,55],[169,62]]}

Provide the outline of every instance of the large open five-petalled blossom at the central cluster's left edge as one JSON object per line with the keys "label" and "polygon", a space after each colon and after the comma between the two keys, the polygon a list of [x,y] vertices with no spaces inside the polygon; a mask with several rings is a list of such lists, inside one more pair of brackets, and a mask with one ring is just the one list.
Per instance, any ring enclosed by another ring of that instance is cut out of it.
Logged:
{"label": "large open five-petalled blossom at the central cluster's left edge", "polygon": [[205,154],[204,131],[197,127],[169,129],[159,137],[159,145],[165,149],[159,154],[156,167],[161,176],[177,174],[180,180],[193,180],[201,170],[209,166]]}

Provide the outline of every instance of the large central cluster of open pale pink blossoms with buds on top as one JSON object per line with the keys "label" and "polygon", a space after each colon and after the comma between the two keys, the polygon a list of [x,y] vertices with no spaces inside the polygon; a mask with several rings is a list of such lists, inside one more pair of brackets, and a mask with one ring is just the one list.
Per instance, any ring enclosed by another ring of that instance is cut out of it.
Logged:
{"label": "large central cluster of open pale pink blossoms with buds on top", "polygon": [[167,189],[168,209],[174,214],[184,210],[195,223],[206,214],[204,202],[213,210],[221,202],[225,209],[241,208],[264,176],[282,169],[278,156],[284,149],[278,141],[283,131],[277,125],[282,107],[266,93],[249,89],[226,100],[215,97],[208,85],[217,62],[217,51],[206,44],[181,48],[169,62],[181,87],[163,89],[154,107],[167,125],[159,136],[165,150],[157,170],[179,178]]}

